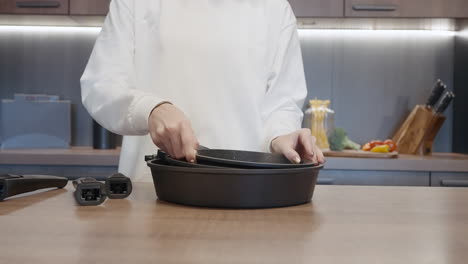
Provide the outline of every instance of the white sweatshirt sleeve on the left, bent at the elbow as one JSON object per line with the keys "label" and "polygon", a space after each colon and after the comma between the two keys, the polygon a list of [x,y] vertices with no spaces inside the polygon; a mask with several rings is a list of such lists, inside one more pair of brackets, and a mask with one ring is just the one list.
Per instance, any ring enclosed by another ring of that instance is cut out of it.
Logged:
{"label": "white sweatshirt sleeve on the left, bent at the elbow", "polygon": [[151,110],[163,100],[136,87],[133,3],[113,0],[81,78],[82,102],[106,129],[121,135],[148,133]]}

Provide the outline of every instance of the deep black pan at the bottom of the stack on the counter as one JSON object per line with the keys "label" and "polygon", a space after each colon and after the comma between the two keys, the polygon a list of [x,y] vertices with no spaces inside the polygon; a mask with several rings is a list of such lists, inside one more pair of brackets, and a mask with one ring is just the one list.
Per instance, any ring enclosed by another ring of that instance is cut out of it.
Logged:
{"label": "deep black pan at the bottom of the stack on the counter", "polygon": [[272,208],[312,199],[323,165],[287,169],[191,168],[147,161],[159,199],[217,208]]}

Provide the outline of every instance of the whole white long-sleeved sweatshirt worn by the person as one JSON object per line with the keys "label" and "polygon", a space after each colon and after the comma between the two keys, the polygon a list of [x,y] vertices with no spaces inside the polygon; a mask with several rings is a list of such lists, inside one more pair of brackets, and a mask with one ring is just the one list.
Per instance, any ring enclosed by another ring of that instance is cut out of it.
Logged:
{"label": "whole white long-sleeved sweatshirt worn by the person", "polygon": [[180,108],[200,144],[269,151],[300,128],[307,95],[286,0],[113,0],[81,78],[82,101],[125,135],[119,171],[151,181],[151,110]]}

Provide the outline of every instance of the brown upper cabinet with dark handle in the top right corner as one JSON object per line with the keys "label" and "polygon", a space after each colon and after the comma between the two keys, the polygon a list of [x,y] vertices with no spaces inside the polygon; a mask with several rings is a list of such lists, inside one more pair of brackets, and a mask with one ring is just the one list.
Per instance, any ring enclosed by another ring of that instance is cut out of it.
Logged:
{"label": "brown upper cabinet with dark handle in the top right corner", "polygon": [[468,17],[466,0],[345,0],[347,17]]}

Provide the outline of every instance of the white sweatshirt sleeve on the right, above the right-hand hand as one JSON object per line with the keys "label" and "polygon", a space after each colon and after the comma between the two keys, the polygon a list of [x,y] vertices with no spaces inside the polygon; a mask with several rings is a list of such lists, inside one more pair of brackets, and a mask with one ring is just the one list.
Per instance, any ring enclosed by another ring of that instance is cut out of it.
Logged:
{"label": "white sweatshirt sleeve on the right, above the right-hand hand", "polygon": [[[278,136],[297,131],[302,125],[302,107],[307,86],[297,26],[292,12],[280,34],[268,90],[262,106],[265,150]],[[292,23],[291,23],[292,22]]]}

